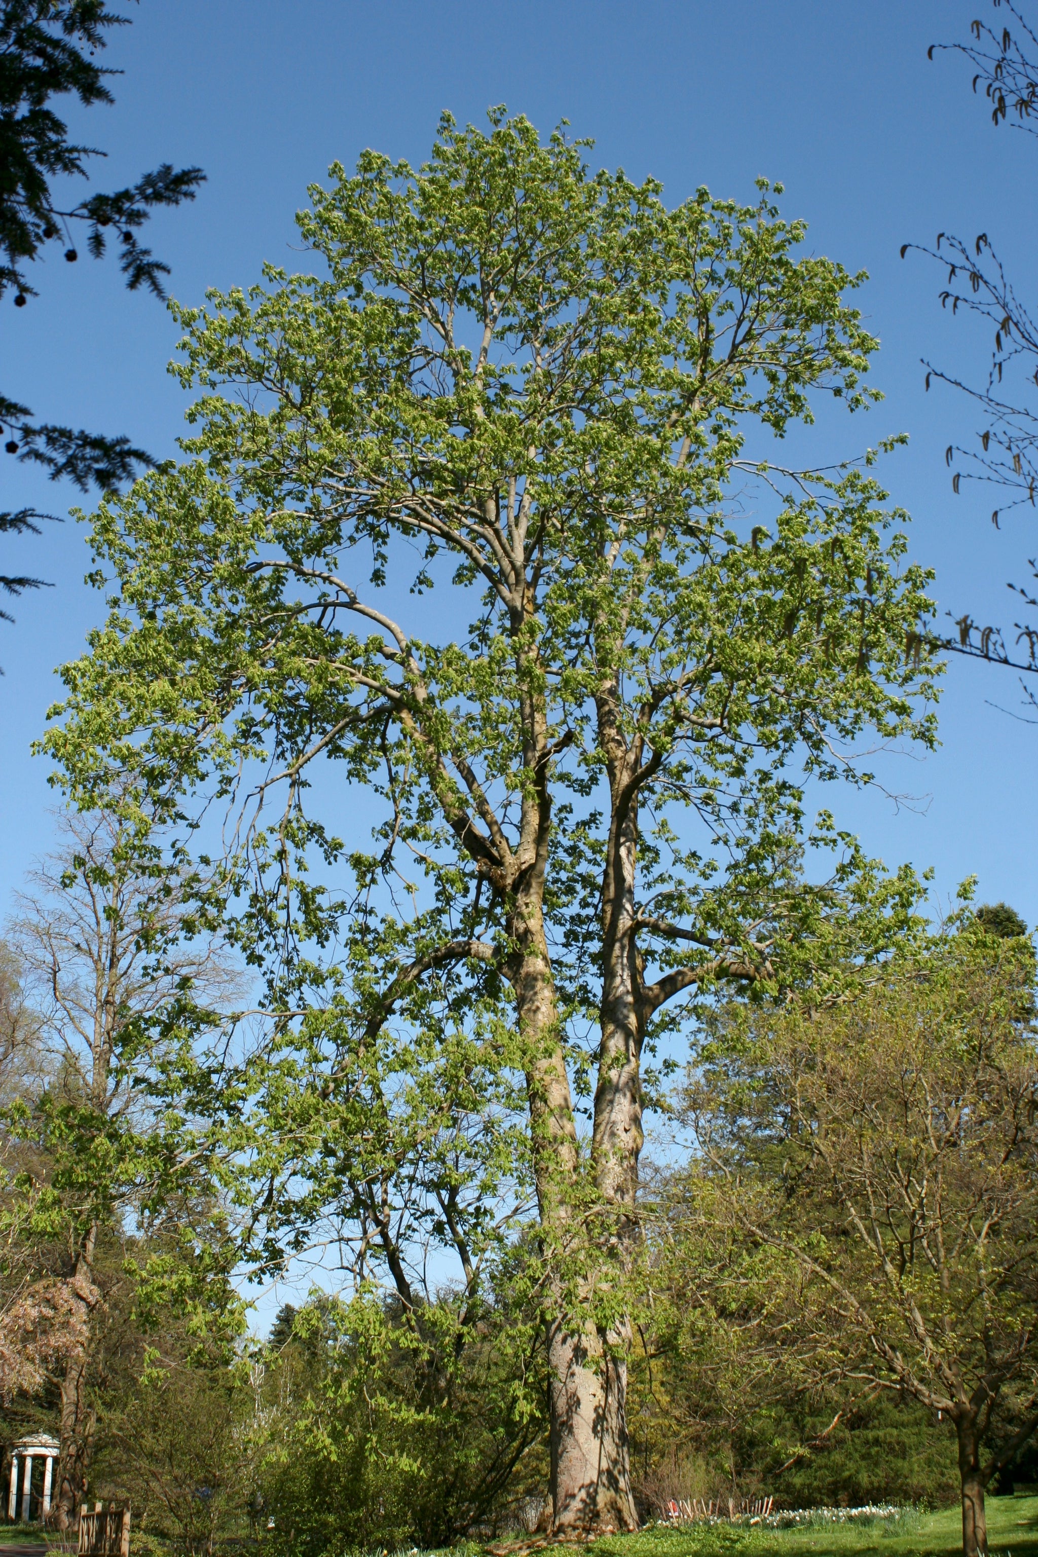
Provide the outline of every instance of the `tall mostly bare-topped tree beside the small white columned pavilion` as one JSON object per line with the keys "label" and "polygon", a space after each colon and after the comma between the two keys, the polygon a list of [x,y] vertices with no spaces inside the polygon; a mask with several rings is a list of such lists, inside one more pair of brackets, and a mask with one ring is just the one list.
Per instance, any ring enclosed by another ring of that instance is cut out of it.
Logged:
{"label": "tall mostly bare-topped tree beside the small white columned pavilion", "polygon": [[[110,817],[67,816],[64,833],[64,852],[36,872],[14,926],[48,1071],[37,1093],[6,1110],[8,1129],[33,1148],[17,1165],[9,1235],[61,1250],[58,1269],[23,1302],[62,1305],[72,1336],[61,1378],[59,1527],[78,1506],[93,1443],[89,1373],[104,1309],[98,1239],[118,1241],[129,1230],[156,1238],[171,1225],[190,1250],[199,1232],[190,1200],[207,1193],[204,1158],[193,1154],[190,1171],[179,1171],[187,1062],[176,1028],[156,1023],[232,989],[212,939],[177,944],[184,905],[171,878],[149,870]],[[149,1095],[149,1081],[165,1095]],[[219,1227],[212,1210],[204,1241]]]}

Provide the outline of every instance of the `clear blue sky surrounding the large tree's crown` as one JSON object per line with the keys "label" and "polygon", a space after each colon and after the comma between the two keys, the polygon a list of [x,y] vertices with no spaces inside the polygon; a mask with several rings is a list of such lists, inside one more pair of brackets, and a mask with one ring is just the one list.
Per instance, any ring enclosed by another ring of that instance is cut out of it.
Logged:
{"label": "clear blue sky surrounding the large tree's crown", "polygon": [[[75,115],[82,139],[109,151],[98,185],[135,179],[160,160],[198,162],[209,182],[193,207],[153,223],[173,266],[171,291],[201,301],[209,285],[249,283],[263,260],[305,268],[293,215],[328,162],[364,146],[417,162],[444,107],[481,120],[492,103],[543,131],[568,118],[594,137],[593,160],[665,181],[679,201],[699,184],[752,198],[766,174],[786,185],[789,215],[811,224],[817,252],[868,269],[859,294],[882,341],[875,381],[885,402],[867,417],[829,420],[811,445],[823,462],[893,431],[907,450],[884,467],[914,515],[917,557],[938,571],[942,606],[1012,620],[1005,581],[1036,548],[1027,517],[998,534],[991,501],[951,494],[943,450],[966,439],[970,408],[923,392],[920,357],[980,367],[988,343],[937,304],[940,274],[901,262],[907,240],[985,229],[1035,274],[1038,143],[994,131],[970,95],[970,67],[926,61],[926,45],[965,37],[991,0],[142,0],[109,48],[117,106]],[[998,17],[996,12],[991,12]],[[157,456],[176,452],[184,397],[165,374],[176,329],[160,305],[121,291],[114,265],[59,257],[39,268],[40,299],[0,329],[5,392],[48,419],[128,433]],[[1038,297],[1036,297],[1038,301]],[[75,494],[48,487],[0,455],[0,508],[64,512]],[[45,764],[28,755],[58,691],[53,668],[81,651],[100,599],[82,584],[86,548],[72,523],[40,540],[0,542],[3,571],[54,587],[14,606],[0,626],[0,908],[48,844]],[[943,747],[926,761],[890,758],[890,789],[831,796],[843,822],[889,864],[937,869],[948,895],[968,872],[987,900],[1005,898],[1033,925],[1032,774],[1038,727],[998,712],[1019,707],[1008,673],[952,662],[942,704]]]}

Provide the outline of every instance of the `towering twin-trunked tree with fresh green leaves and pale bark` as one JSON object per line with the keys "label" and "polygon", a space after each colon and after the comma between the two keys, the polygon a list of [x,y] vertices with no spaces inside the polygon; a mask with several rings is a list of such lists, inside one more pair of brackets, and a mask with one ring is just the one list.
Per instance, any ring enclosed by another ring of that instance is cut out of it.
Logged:
{"label": "towering twin-trunked tree with fresh green leaves and pale bark", "polygon": [[853,850],[805,884],[795,780],[867,729],[931,740],[926,575],[865,470],[767,462],[815,397],[873,394],[862,277],[801,251],[780,190],[669,210],[490,118],[444,117],[417,171],[336,165],[300,216],[316,276],[181,313],[193,458],[95,515],[112,612],[48,747],[81,803],[114,785],[221,852],[293,1067],[255,1115],[269,1228],[279,1186],[314,1186],[300,1214],[352,1186],[406,1305],[416,1176],[364,1154],[436,1077],[465,1107],[512,1077],[521,1137],[495,1093],[496,1151],[437,1160],[422,1227],[468,1277],[529,1165],[556,1527],[627,1527],[643,1054],[680,996],[823,956],[828,911],[887,933]]}

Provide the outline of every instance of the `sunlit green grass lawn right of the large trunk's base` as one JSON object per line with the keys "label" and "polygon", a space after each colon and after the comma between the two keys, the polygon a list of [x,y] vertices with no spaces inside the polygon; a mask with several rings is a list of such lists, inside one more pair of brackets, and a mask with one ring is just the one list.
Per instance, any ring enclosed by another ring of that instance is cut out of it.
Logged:
{"label": "sunlit green grass lawn right of the large trunk's base", "polygon": [[[1038,1557],[1038,1498],[988,1498],[988,1546],[999,1557]],[[962,1551],[959,1509],[921,1515],[914,1529],[836,1524],[800,1531],[693,1526],[604,1537],[596,1557],[954,1557]]]}

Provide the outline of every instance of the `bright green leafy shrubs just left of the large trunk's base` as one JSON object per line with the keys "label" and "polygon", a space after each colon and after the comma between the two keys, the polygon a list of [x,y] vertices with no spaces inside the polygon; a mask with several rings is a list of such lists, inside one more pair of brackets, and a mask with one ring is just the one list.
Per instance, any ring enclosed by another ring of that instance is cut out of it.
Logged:
{"label": "bright green leafy shrubs just left of the large trunk's base", "polygon": [[265,1545],[431,1548],[507,1518],[523,1493],[543,1503],[537,1328],[507,1283],[475,1325],[451,1292],[417,1314],[372,1292],[302,1308],[263,1380]]}

